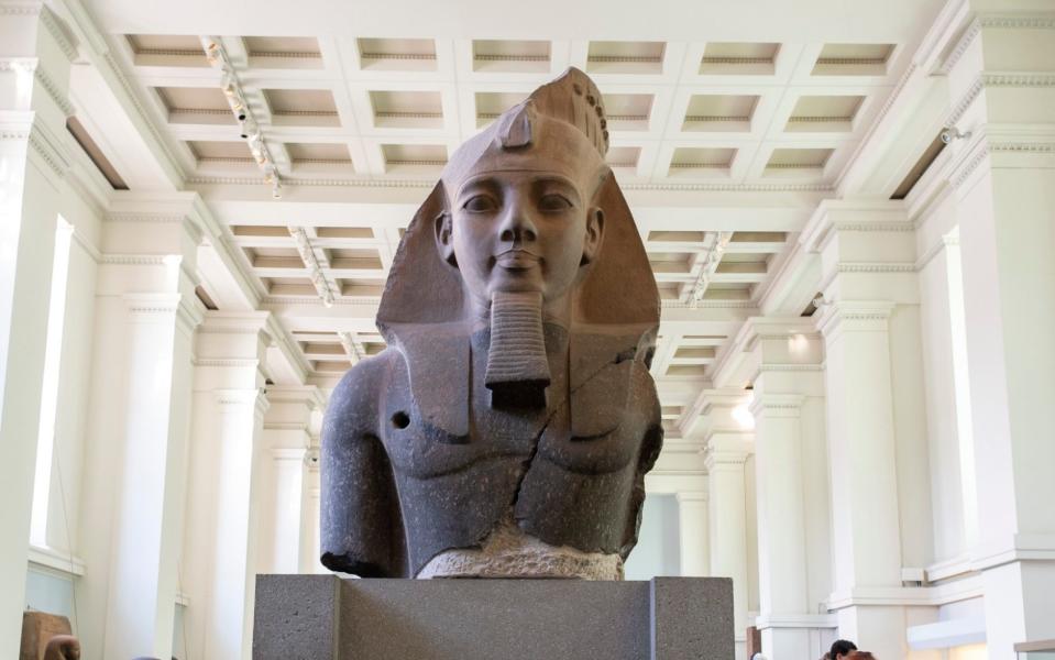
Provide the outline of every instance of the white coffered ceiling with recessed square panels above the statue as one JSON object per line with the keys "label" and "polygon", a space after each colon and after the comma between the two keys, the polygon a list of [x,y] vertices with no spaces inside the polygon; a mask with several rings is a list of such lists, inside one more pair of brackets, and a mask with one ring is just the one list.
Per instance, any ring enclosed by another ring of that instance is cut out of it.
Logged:
{"label": "white coffered ceiling with recessed square panels above the statue", "polygon": [[[88,4],[322,385],[384,348],[373,317],[393,254],[458,145],[564,68],[585,70],[663,298],[653,373],[677,438],[723,345],[778,295],[774,273],[939,3],[850,3],[854,19],[834,0],[635,3],[625,15],[593,2]],[[281,199],[202,36],[229,57]],[[222,306],[222,292],[204,293]],[[784,292],[782,311],[802,312],[812,293]]]}

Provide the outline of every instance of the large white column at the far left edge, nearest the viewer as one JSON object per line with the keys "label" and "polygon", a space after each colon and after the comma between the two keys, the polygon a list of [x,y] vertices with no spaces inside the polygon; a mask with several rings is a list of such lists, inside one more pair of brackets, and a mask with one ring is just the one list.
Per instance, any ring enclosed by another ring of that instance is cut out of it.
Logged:
{"label": "large white column at the far left edge, nearest the viewer", "polygon": [[[11,11],[9,11],[9,9]],[[0,656],[15,657],[73,48],[43,2],[0,1]]]}

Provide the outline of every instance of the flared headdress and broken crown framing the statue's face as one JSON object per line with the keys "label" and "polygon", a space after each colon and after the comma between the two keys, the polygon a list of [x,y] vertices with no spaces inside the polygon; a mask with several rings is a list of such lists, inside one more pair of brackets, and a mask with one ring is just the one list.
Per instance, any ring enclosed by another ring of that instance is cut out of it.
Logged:
{"label": "flared headdress and broken crown framing the statue's face", "polygon": [[[430,370],[431,376],[425,370],[416,373],[413,353],[418,344],[428,345],[432,354],[440,344],[450,344],[447,348],[455,353],[466,352],[452,355],[452,364],[468,358],[468,342],[461,348],[457,340],[464,339],[459,327],[466,317],[461,275],[441,257],[433,228],[436,219],[449,212],[459,187],[473,176],[509,169],[556,172],[578,182],[587,197],[592,194],[593,205],[604,211],[604,234],[597,255],[582,266],[572,336],[578,329],[655,337],[659,292],[630,209],[605,164],[607,150],[601,92],[584,73],[570,68],[459,147],[415,213],[393,260],[377,327],[389,345],[406,355],[416,400],[424,404],[421,413],[448,432],[468,432],[463,398],[468,392],[449,382],[429,383],[442,377],[440,370]],[[462,413],[452,413],[457,409]]]}

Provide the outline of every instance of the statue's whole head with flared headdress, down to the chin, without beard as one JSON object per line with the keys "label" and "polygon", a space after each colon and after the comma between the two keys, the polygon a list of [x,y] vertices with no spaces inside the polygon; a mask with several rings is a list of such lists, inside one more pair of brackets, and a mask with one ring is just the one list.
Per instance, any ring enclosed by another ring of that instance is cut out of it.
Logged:
{"label": "statue's whole head with flared headdress, down to the chin, without beard", "polygon": [[607,147],[601,94],[574,68],[465,142],[399,246],[382,330],[479,317],[502,294],[537,294],[568,323],[658,322]]}

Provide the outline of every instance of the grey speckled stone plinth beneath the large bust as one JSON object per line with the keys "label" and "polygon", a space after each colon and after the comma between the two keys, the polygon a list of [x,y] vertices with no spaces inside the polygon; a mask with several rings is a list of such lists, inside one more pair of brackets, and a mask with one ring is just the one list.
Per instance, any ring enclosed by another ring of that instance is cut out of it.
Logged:
{"label": "grey speckled stone plinth beneath the large bust", "polygon": [[260,575],[256,660],[732,660],[733,583]]}

